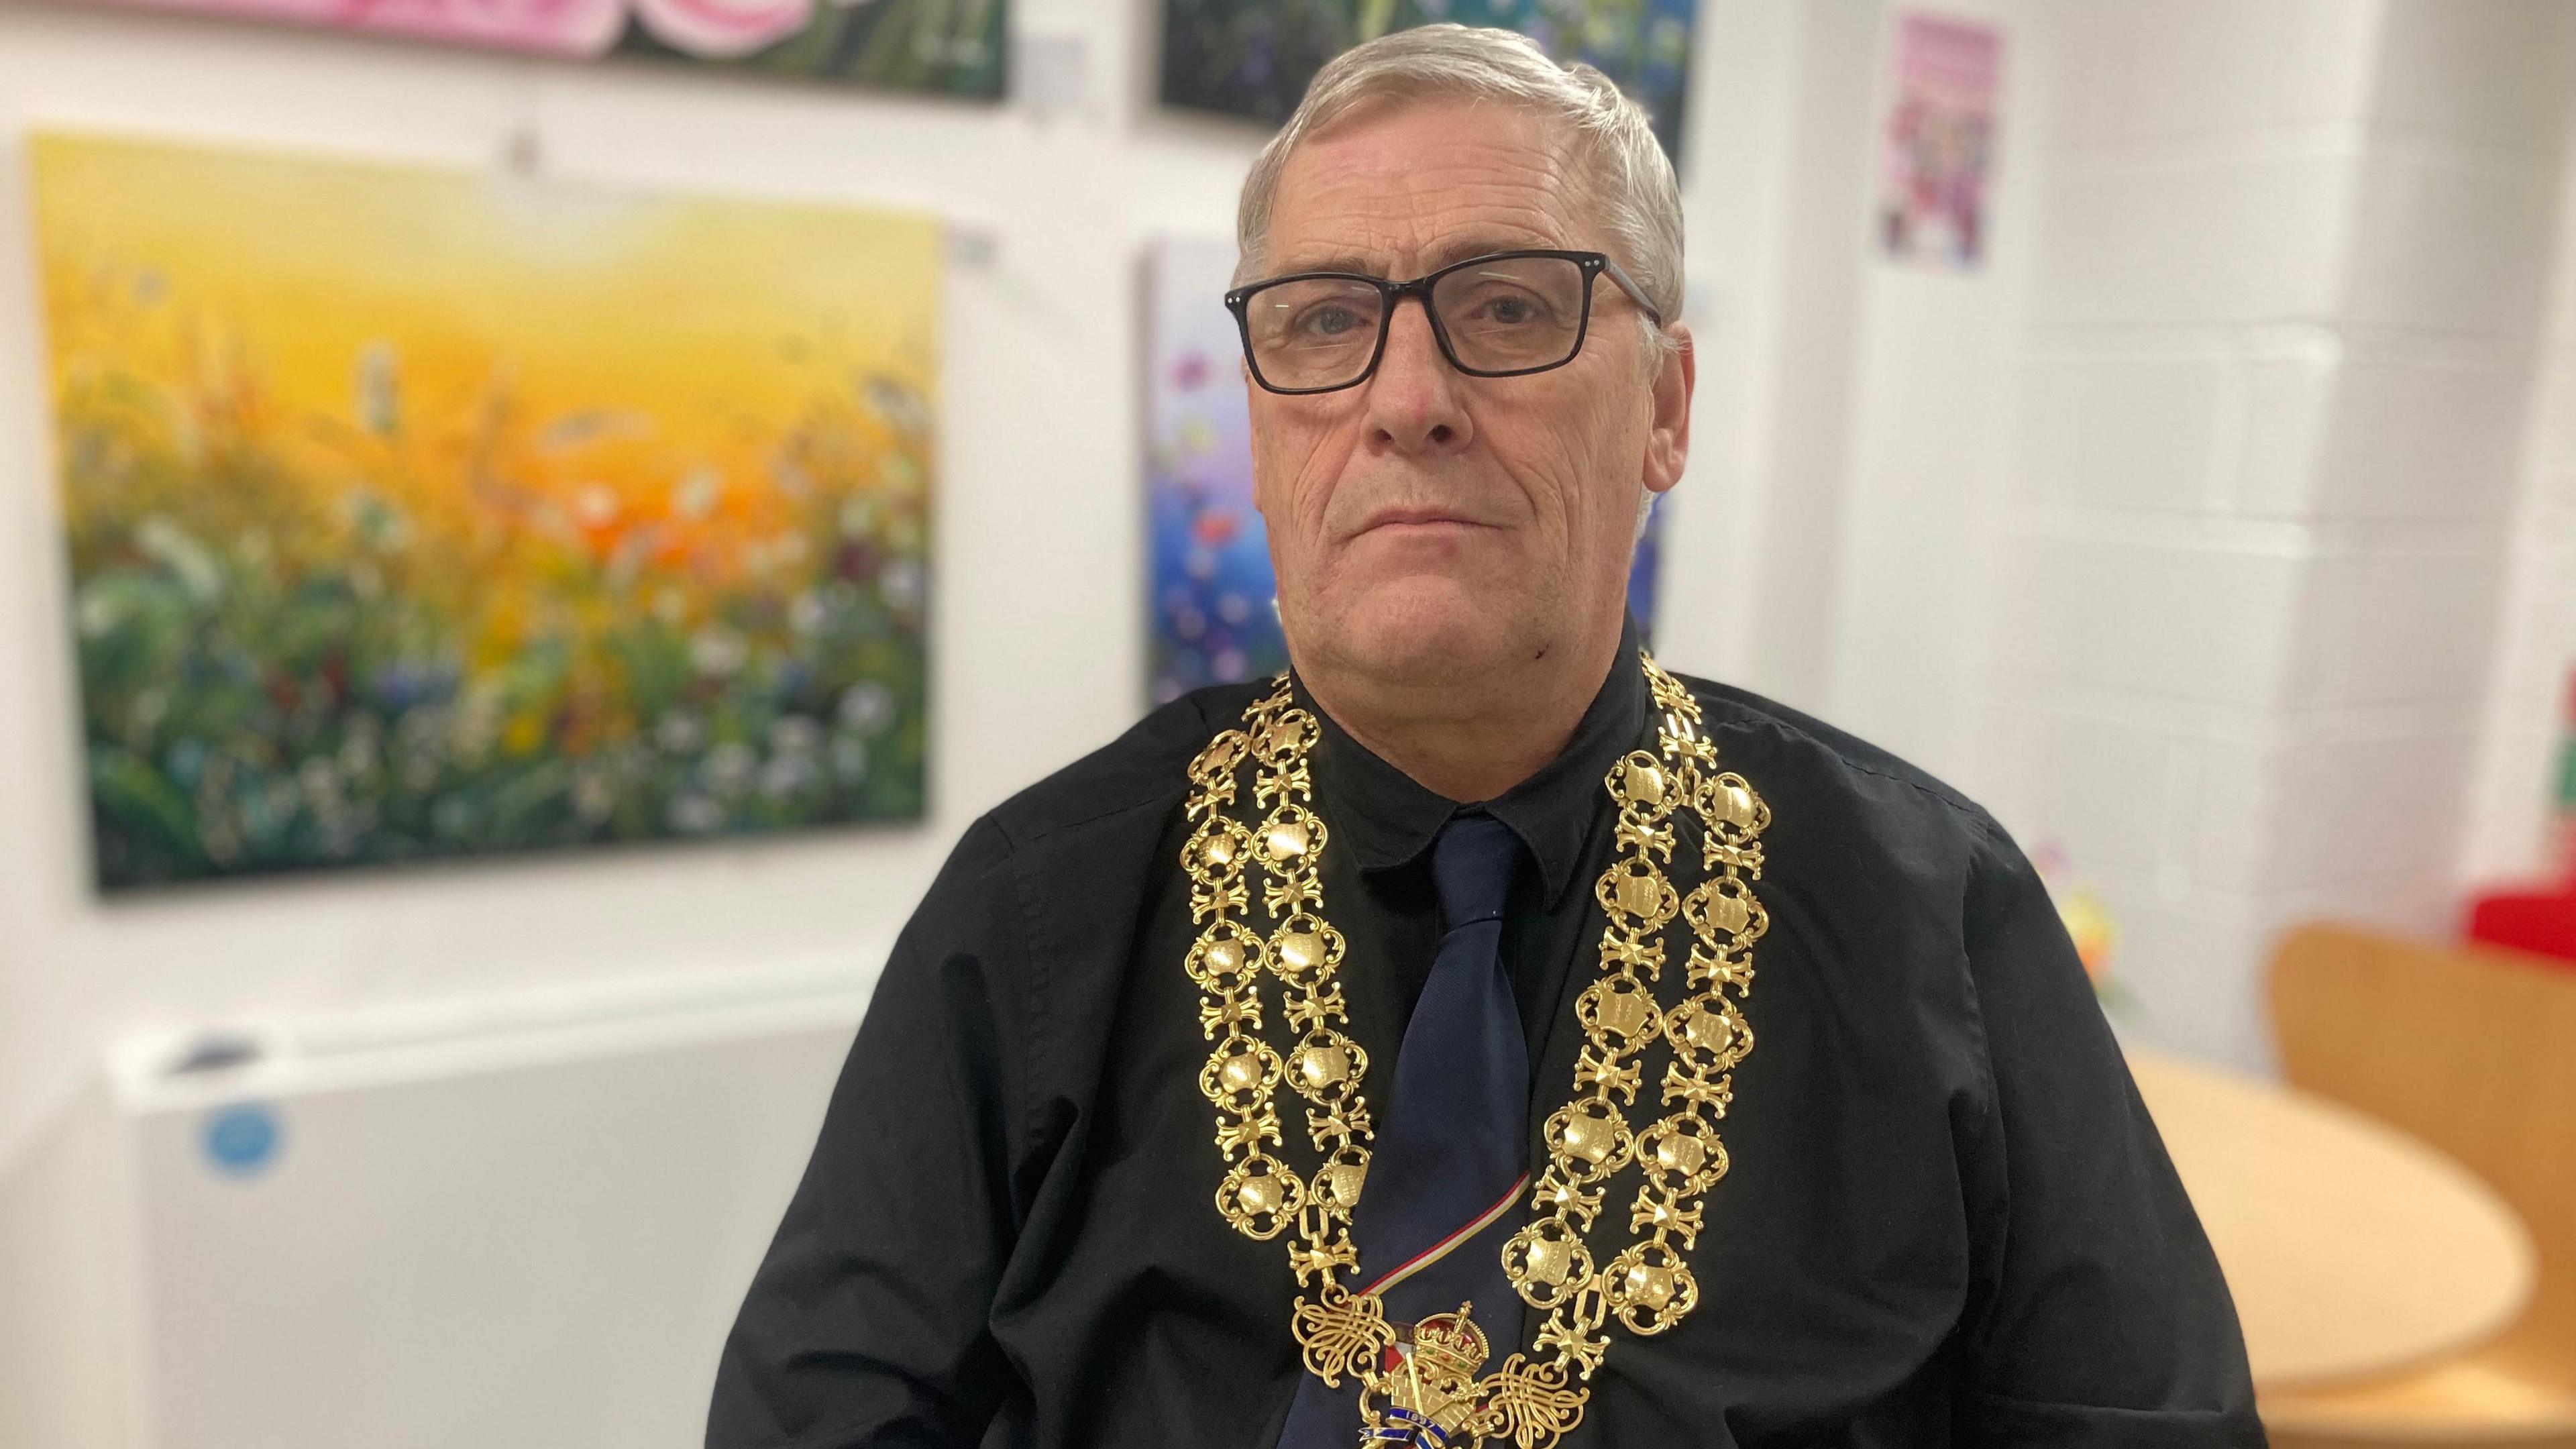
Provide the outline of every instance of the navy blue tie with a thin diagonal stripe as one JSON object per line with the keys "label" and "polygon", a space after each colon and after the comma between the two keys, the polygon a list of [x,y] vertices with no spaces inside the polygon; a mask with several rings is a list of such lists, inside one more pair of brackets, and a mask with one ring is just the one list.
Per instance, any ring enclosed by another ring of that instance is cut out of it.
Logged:
{"label": "navy blue tie with a thin diagonal stripe", "polygon": [[[1502,1276],[1502,1243],[1525,1217],[1530,1160],[1530,1044],[1502,969],[1502,905],[1520,838],[1492,815],[1455,815],[1432,843],[1440,951],[1396,1052],[1396,1091],[1352,1212],[1363,1289],[1388,1323],[1419,1323],[1471,1302],[1494,1361],[1520,1343],[1520,1294]],[[1298,1379],[1280,1449],[1352,1449],[1360,1392]]]}

